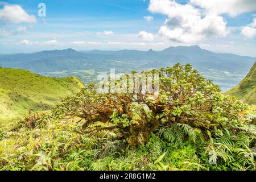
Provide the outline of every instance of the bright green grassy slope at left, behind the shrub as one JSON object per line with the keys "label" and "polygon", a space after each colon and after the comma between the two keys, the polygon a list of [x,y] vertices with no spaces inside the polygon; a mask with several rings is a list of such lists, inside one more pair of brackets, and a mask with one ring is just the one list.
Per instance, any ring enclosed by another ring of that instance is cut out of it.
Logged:
{"label": "bright green grassy slope at left, behind the shrub", "polygon": [[0,119],[47,110],[84,85],[76,77],[51,78],[21,69],[0,68]]}

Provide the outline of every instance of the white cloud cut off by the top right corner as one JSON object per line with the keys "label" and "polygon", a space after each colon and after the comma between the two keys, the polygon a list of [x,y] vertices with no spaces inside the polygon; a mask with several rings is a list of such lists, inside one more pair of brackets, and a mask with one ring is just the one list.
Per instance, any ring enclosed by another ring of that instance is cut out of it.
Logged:
{"label": "white cloud cut off by the top right corner", "polygon": [[229,14],[237,16],[242,13],[256,10],[255,0],[191,0],[192,5],[205,9],[207,14]]}

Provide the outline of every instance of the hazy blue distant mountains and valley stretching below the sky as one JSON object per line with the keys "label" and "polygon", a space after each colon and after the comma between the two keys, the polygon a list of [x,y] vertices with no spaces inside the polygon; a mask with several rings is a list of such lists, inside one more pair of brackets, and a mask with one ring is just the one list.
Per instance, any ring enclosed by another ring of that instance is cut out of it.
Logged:
{"label": "hazy blue distant mountains and valley stretching below the sky", "polygon": [[255,61],[255,57],[214,53],[199,46],[169,47],[163,51],[150,49],[77,52],[64,49],[0,55],[0,67],[27,69],[46,76],[78,76],[85,83],[96,81],[98,73],[109,72],[110,68],[115,68],[116,72],[127,73],[132,70],[170,67],[177,62],[191,63],[202,75],[212,79],[223,90],[237,85]]}

